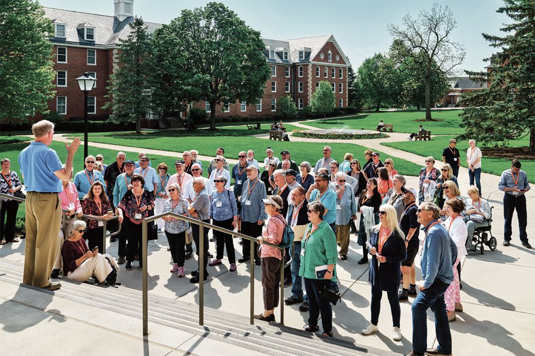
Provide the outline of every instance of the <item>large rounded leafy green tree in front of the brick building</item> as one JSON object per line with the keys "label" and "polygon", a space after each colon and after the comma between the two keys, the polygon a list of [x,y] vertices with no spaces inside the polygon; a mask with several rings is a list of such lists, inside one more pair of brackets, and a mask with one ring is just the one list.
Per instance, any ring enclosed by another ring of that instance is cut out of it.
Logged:
{"label": "large rounded leafy green tree in front of the brick building", "polygon": [[[160,39],[161,37],[162,39]],[[164,56],[163,66],[178,72],[158,85],[177,90],[182,100],[210,103],[210,129],[216,128],[216,105],[245,101],[256,103],[264,95],[270,68],[260,33],[245,24],[224,4],[183,10],[180,17],[155,33],[173,56]],[[160,63],[158,63],[160,65]]]}

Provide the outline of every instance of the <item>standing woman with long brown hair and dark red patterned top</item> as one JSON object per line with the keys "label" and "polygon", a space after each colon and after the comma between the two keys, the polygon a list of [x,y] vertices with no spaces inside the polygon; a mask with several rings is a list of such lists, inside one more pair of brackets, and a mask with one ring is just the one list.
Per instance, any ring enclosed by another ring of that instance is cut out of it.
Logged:
{"label": "standing woman with long brown hair and dark red patterned top", "polygon": [[[96,218],[108,220],[113,216],[111,204],[104,191],[104,185],[101,182],[93,182],[91,188],[82,200],[83,213]],[[87,234],[85,238],[88,239],[87,245],[89,250],[93,250],[98,246],[100,251],[104,250],[102,244],[102,235],[104,233],[104,222],[89,219]]]}

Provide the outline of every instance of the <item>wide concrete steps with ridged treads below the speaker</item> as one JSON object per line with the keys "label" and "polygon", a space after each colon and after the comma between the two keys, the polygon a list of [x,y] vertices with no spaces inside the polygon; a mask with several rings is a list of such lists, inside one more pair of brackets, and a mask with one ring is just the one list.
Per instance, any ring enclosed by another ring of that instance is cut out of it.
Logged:
{"label": "wide concrete steps with ridged treads below the speaker", "polygon": [[[0,260],[0,281],[21,284],[22,272],[23,266],[18,262]],[[142,319],[141,291],[124,286],[116,288],[80,283],[66,278],[60,278],[59,281],[62,282],[62,288],[54,292],[27,285],[24,287]],[[250,325],[249,318],[209,307],[204,308],[204,326],[200,326],[198,325],[198,305],[185,303],[179,299],[149,294],[148,305],[149,332],[150,324],[157,323],[269,355],[394,354],[345,340],[310,334],[278,323],[255,320],[256,324]]]}

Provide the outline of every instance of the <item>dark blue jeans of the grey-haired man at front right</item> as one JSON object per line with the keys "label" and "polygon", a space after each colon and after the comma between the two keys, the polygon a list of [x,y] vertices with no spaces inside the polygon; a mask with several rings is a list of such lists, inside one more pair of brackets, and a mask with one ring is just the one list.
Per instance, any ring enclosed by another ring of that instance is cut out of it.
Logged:
{"label": "dark blue jeans of the grey-haired man at front right", "polygon": [[444,292],[448,287],[448,283],[435,278],[433,284],[420,291],[412,302],[412,351],[424,354],[427,349],[427,309],[431,308],[435,317],[437,349],[446,355],[452,353],[452,334],[444,303]]}

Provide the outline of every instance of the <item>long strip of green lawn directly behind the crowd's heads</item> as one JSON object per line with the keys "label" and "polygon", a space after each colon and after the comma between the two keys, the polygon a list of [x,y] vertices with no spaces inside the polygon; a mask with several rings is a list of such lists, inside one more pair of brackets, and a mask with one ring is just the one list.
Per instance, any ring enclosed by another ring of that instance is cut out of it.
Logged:
{"label": "long strip of green lawn directly behind the crowd's heads", "polygon": [[[181,152],[188,149],[196,149],[199,154],[213,156],[218,147],[225,149],[225,157],[238,158],[238,153],[242,150],[252,149],[256,152],[256,159],[263,161],[265,150],[271,146],[277,157],[280,157],[282,150],[289,150],[292,153],[292,159],[298,163],[309,161],[311,165],[322,157],[323,143],[317,142],[281,142],[269,141],[262,138],[235,136],[235,137],[218,137],[214,140],[211,136],[184,136],[184,137],[122,137],[112,136],[113,143],[139,148],[150,148],[156,150]],[[110,137],[91,137],[91,142],[109,143]],[[333,149],[333,158],[342,161],[346,152],[351,152],[361,162],[364,160],[363,153],[366,150],[364,146],[349,143],[331,143]],[[381,152],[380,152],[381,153]],[[387,158],[386,154],[381,153],[381,159]],[[407,160],[394,158],[395,168],[400,174],[418,175],[420,166]]]}

